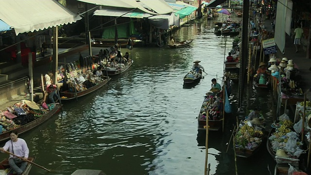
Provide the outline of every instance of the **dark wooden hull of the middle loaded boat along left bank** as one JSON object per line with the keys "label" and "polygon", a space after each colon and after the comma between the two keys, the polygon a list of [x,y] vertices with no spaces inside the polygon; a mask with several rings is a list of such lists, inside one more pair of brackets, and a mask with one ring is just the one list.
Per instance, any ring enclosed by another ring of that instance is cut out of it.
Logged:
{"label": "dark wooden hull of the middle loaded boat along left bank", "polygon": [[61,97],[65,97],[65,98],[61,98],[61,100],[72,100],[72,99],[76,99],[76,98],[85,96],[85,95],[87,95],[87,94],[89,94],[89,93],[91,93],[91,92],[93,92],[93,91],[95,91],[95,90],[97,90],[99,88],[102,88],[110,80],[111,80],[111,78],[107,77],[104,81],[98,83],[97,85],[95,85],[95,86],[93,86],[91,88],[88,88],[86,90],[78,91],[77,93],[76,92],[71,92],[69,90],[62,91],[62,92],[60,92],[60,96]]}

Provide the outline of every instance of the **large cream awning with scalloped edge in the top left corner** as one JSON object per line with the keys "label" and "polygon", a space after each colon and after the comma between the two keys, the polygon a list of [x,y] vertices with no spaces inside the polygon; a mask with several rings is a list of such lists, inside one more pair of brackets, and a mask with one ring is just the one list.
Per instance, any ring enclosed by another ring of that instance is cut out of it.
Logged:
{"label": "large cream awning with scalloped edge in the top left corner", "polygon": [[81,17],[55,0],[1,0],[0,19],[18,35],[76,22]]}

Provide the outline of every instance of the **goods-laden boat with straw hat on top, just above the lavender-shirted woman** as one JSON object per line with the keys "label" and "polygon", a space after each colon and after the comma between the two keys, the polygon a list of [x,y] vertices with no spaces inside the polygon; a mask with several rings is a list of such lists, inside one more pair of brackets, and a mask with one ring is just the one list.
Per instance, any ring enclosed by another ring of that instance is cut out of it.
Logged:
{"label": "goods-laden boat with straw hat on top, just above the lavender-shirted woman", "polygon": [[0,141],[10,139],[10,131],[22,134],[33,129],[51,118],[60,107],[55,103],[48,104],[48,108],[45,109],[28,100],[7,107],[7,110],[0,112]]}

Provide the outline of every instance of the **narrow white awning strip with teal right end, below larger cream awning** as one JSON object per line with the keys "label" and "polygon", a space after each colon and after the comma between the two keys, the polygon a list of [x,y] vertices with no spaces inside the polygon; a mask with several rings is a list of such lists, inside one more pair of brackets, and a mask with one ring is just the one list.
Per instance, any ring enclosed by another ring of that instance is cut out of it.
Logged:
{"label": "narrow white awning strip with teal right end, below larger cream awning", "polygon": [[[143,12],[132,11],[129,9],[102,9],[94,12],[95,16],[108,16],[108,17],[127,17],[127,18],[148,18],[152,15]],[[129,13],[128,13],[129,12]]]}

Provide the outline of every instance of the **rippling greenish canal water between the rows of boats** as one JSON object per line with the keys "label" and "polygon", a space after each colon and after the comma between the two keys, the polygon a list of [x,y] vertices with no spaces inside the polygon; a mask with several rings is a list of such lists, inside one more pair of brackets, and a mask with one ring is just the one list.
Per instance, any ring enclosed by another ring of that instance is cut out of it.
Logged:
{"label": "rippling greenish canal water between the rows of boats", "polygon": [[[233,41],[214,35],[213,27],[211,21],[194,21],[180,28],[177,41],[194,39],[187,48],[130,51],[134,60],[130,70],[78,102],[66,103],[62,114],[20,136],[35,162],[54,175],[70,175],[76,169],[98,169],[107,175],[203,175],[205,132],[197,131],[197,116],[211,79],[221,83],[224,53]],[[93,50],[98,53],[99,48]],[[183,88],[183,77],[194,60],[200,60],[208,74],[194,88]],[[232,90],[234,113],[226,117],[225,132],[209,133],[210,175],[236,171],[233,146],[227,144],[236,119],[238,83],[233,82]],[[247,86],[243,97],[244,110],[260,106],[263,115],[271,110],[269,91]],[[264,144],[253,157],[237,158],[237,171],[269,175],[274,162]],[[33,166],[31,175],[45,174]]]}

